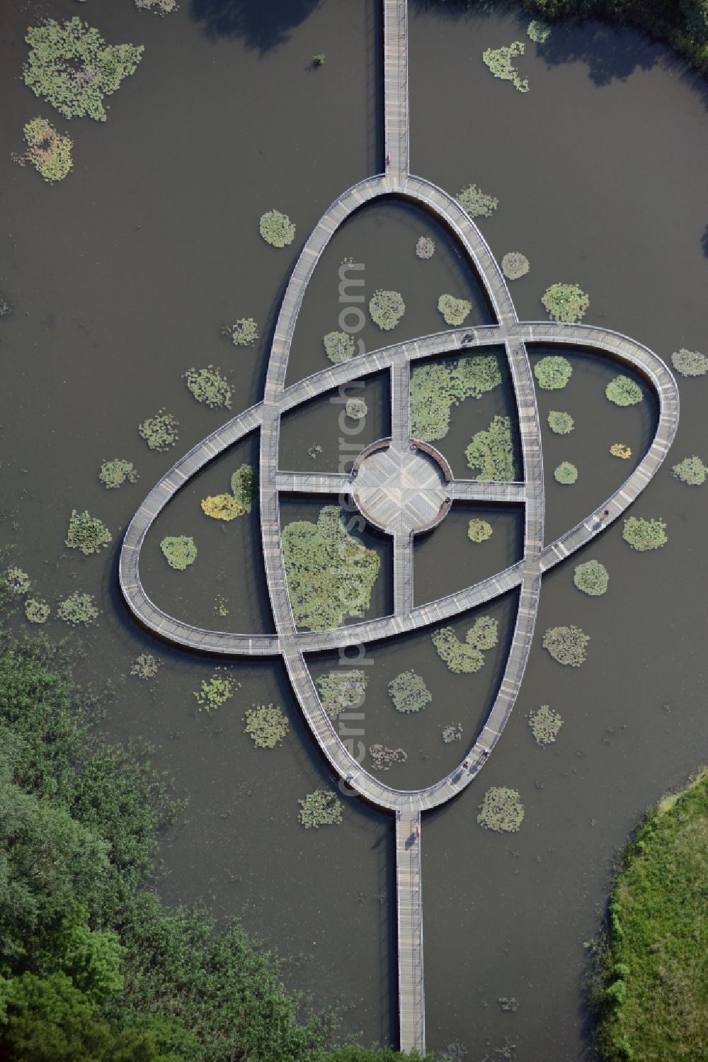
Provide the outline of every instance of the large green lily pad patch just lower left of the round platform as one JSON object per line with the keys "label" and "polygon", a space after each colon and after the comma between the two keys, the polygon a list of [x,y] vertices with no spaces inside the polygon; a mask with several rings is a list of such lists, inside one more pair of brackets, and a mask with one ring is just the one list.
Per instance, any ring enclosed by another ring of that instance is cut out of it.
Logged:
{"label": "large green lily pad patch just lower left of the round platform", "polygon": [[298,627],[326,631],[370,605],[381,561],[346,529],[338,506],[325,506],[317,523],[295,520],[282,531],[282,556]]}

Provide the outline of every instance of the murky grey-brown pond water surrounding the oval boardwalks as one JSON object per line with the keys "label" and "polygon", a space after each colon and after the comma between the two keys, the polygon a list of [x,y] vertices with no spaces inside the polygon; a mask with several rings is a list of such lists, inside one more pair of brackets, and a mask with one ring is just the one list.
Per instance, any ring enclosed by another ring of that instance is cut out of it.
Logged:
{"label": "murky grey-brown pond water surrounding the oval boardwalks", "polygon": [[[105,123],[63,121],[20,79],[24,28],[76,13],[109,41],[145,46],[137,73],[108,101]],[[50,602],[74,589],[100,599],[79,671],[117,683],[107,732],[154,742],[155,763],[191,796],[186,823],[165,842],[165,896],[203,896],[220,914],[242,913],[249,930],[300,956],[293,984],[322,1004],[341,997],[350,1007],[347,1029],[361,1030],[365,1043],[387,1041],[396,1025],[390,820],[348,801],[339,828],[301,829],[298,798],[330,777],[281,666],[228,664],[240,688],[217,713],[200,713],[192,692],[217,662],[141,632],[116,579],[120,537],[142,496],[173,456],[229,415],[197,405],[182,374],[217,365],[232,383],[234,411],[259,400],[274,315],[299,247],[331,200],[380,166],[378,5],[184,0],[161,19],[129,0],[91,0],[80,11],[73,0],[30,0],[13,11],[5,5],[2,28],[0,292],[15,306],[0,321],[2,538],[17,544],[15,563]],[[589,323],[624,331],[667,359],[680,346],[705,350],[705,86],[638,34],[590,25],[557,31],[542,48],[526,40],[518,66],[531,91],[521,95],[494,80],[481,59],[485,48],[515,39],[526,38],[512,16],[412,5],[413,171],[453,193],[473,182],[499,198],[481,227],[499,258],[516,250],[531,260],[531,273],[512,285],[521,318],[543,315],[539,298],[550,284],[577,282],[590,295]],[[318,52],[327,59],[314,70]],[[40,114],[61,132],[69,127],[74,140],[74,169],[57,187],[10,158],[22,150],[22,124]],[[273,207],[297,224],[295,242],[282,251],[258,235],[259,216]],[[378,287],[403,293],[407,314],[395,338],[438,328],[444,291],[468,292],[483,319],[451,241],[438,234],[429,262],[413,254],[417,236],[433,227],[392,203],[370,207],[338,234],[306,297],[289,382],[327,365],[321,339],[336,327],[336,271],[347,256],[365,263],[367,297]],[[252,315],[262,337],[254,348],[236,348],[220,335]],[[382,342],[370,325],[362,338],[369,349]],[[610,458],[608,447],[628,444],[638,460],[654,415],[649,400],[627,410],[605,400],[612,374],[602,359],[571,361],[568,388],[539,395],[542,421],[562,409],[576,424],[567,438],[543,429],[549,541],[628,474],[634,462]],[[681,421],[669,464],[693,453],[708,460],[708,380],[679,384]],[[385,408],[378,409],[386,393],[385,381],[367,384],[372,439],[386,424]],[[441,447],[461,473],[464,446],[503,400],[500,390],[453,410]],[[160,408],[180,423],[171,453],[149,451],[136,430]],[[340,408],[325,399],[283,422],[292,467],[335,467]],[[323,446],[314,459],[313,444]],[[271,628],[257,514],[222,527],[198,509],[200,498],[227,490],[231,472],[255,452],[249,439],[214,462],[160,516],[145,547],[149,590],[197,623]],[[136,485],[101,486],[100,463],[114,457],[135,463]],[[566,459],[580,470],[572,487],[551,476]],[[65,549],[72,508],[89,509],[110,529],[114,543],[101,558]],[[644,808],[708,756],[707,509],[708,489],[685,486],[666,466],[633,507],[635,515],[666,520],[663,549],[632,551],[616,525],[543,580],[534,647],[504,735],[474,785],[424,821],[431,1048],[454,1040],[470,1059],[504,1044],[517,1045],[525,1060],[584,1057],[583,941],[597,929],[611,860]],[[283,520],[305,513],[294,499]],[[484,544],[467,539],[469,515],[455,506],[416,547],[416,603],[456,588],[455,579],[465,585],[482,578],[518,550],[513,512],[498,514]],[[184,575],[167,569],[158,553],[159,538],[171,533],[194,534],[200,546]],[[385,573],[385,544],[377,548]],[[604,598],[573,586],[574,564],[590,558],[609,571]],[[226,617],[214,615],[218,597]],[[385,611],[386,600],[378,588],[373,611]],[[512,617],[514,607],[505,599],[494,614]],[[470,621],[454,626],[464,632]],[[543,631],[566,623],[591,638],[580,669],[560,667],[541,648]],[[53,619],[48,630],[66,633]],[[128,671],[146,651],[162,664],[156,680],[141,683]],[[417,785],[454,761],[460,747],[444,744],[441,727],[460,723],[463,740],[471,739],[500,658],[460,676],[436,660],[427,634],[370,648],[364,740],[409,756],[383,777]],[[328,666],[313,663],[315,670]],[[434,698],[419,716],[399,717],[386,685],[411,667]],[[290,735],[281,748],[256,750],[242,716],[271,702],[288,715]],[[525,718],[540,704],[564,719],[547,749],[536,747]],[[521,793],[517,835],[477,825],[489,785]],[[502,1011],[500,997],[514,997],[518,1009]]]}

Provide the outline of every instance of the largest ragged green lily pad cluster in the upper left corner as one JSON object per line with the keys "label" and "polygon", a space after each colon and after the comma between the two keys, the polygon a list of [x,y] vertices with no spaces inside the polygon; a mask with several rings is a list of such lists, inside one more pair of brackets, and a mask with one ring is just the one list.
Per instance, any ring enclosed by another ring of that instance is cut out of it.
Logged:
{"label": "largest ragged green lily pad cluster in the upper left corner", "polygon": [[135,72],[144,51],[133,45],[106,45],[99,31],[80,18],[63,25],[46,19],[31,27],[24,39],[30,46],[24,84],[34,95],[65,118],[88,116],[102,122],[106,120],[104,96]]}

